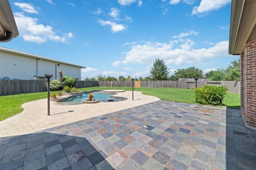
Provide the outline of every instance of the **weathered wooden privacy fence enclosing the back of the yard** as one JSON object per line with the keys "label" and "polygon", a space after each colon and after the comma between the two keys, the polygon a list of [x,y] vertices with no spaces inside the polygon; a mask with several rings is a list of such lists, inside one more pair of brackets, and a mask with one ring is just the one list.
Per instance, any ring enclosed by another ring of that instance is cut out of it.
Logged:
{"label": "weathered wooden privacy fence enclosing the back of the yard", "polygon": [[[0,96],[46,92],[47,80],[0,80]],[[202,87],[205,84],[214,86],[228,86],[230,93],[240,93],[240,82],[236,81],[197,81],[197,87]],[[75,84],[76,88],[86,87],[132,87],[132,81],[83,81],[78,80]],[[135,81],[135,88],[190,88],[196,87],[194,79],[181,81]]]}

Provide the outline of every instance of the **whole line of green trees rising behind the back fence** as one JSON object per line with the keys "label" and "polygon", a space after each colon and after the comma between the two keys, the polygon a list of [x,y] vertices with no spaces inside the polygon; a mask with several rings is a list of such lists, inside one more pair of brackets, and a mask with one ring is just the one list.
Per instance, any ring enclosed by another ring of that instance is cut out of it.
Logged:
{"label": "whole line of green trees rising behind the back fence", "polygon": [[[203,74],[203,70],[191,66],[185,69],[178,69],[174,74],[169,76],[170,69],[166,66],[164,60],[156,59],[150,69],[150,74],[144,78],[139,77],[136,80],[151,81],[151,80],[179,80],[179,78],[209,78],[211,81],[240,81],[240,59],[234,60],[226,68],[218,68]],[[118,79],[111,76],[97,75],[96,78],[85,78],[86,81],[131,81],[131,76],[119,76]]]}

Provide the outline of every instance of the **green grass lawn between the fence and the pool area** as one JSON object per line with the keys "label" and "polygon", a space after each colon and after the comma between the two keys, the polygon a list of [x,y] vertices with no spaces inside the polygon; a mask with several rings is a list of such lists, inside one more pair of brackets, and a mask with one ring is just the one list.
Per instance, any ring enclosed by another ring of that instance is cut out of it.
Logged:
{"label": "green grass lawn between the fence and the pool area", "polygon": [[[91,87],[81,88],[80,91],[89,90],[126,90],[131,91],[132,87]],[[185,102],[196,104],[194,90],[182,88],[134,88],[134,91],[142,94],[156,96],[161,100],[174,102]],[[50,92],[50,95],[56,92]],[[12,96],[0,96],[0,121],[12,117],[23,111],[22,104],[33,100],[47,98],[47,92],[17,94]],[[223,106],[240,109],[240,94],[228,93],[223,102]]]}

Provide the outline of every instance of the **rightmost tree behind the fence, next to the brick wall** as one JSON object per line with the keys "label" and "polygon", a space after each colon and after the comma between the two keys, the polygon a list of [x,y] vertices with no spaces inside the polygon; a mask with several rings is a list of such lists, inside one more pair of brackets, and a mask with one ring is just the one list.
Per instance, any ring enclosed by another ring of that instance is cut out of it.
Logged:
{"label": "rightmost tree behind the fence, next to the brick wall", "polygon": [[240,81],[240,59],[231,61],[231,64],[226,68],[223,80]]}

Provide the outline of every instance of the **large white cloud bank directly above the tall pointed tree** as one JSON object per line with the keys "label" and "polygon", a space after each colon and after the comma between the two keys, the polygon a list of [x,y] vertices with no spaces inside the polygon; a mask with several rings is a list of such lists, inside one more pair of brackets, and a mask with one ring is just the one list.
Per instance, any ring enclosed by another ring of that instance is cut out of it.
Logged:
{"label": "large white cloud bank directly above the tall pointed tree", "polygon": [[155,59],[164,59],[169,64],[198,63],[216,57],[228,57],[228,41],[222,41],[208,49],[193,49],[194,42],[187,39],[179,48],[172,49],[174,42],[154,43],[146,42],[143,45],[132,45],[126,52],[123,64],[143,63],[152,64]]}

